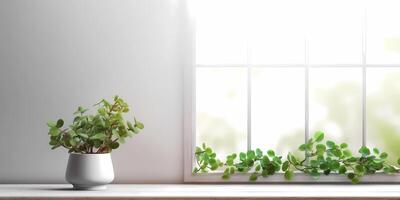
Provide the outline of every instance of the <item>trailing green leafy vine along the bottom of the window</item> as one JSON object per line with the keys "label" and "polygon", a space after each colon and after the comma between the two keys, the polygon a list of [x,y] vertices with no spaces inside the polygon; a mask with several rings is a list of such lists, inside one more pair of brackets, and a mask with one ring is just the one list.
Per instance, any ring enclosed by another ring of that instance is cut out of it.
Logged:
{"label": "trailing green leafy vine along the bottom of the window", "polygon": [[[331,140],[324,141],[324,133],[318,131],[306,143],[298,148],[304,152],[304,158],[298,158],[288,153],[286,158],[276,155],[273,150],[263,152],[261,149],[233,153],[222,162],[217,158],[211,147],[203,144],[196,147],[196,166],[193,173],[207,173],[223,169],[222,178],[229,179],[237,172],[250,174],[249,180],[256,181],[259,177],[268,177],[277,172],[283,172],[286,180],[292,180],[294,172],[299,171],[315,179],[321,175],[332,173],[346,176],[352,183],[359,183],[364,175],[383,172],[394,174],[400,169],[388,164],[388,154],[377,148],[362,146],[358,155],[354,155],[346,143],[337,144]],[[397,161],[400,165],[400,159]]]}

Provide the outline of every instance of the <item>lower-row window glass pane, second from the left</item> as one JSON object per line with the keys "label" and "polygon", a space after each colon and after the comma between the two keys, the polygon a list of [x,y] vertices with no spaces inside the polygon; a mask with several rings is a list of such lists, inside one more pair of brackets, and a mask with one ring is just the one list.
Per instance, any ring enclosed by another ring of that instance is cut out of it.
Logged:
{"label": "lower-row window glass pane, second from the left", "polygon": [[283,155],[304,142],[304,68],[252,69],[252,148]]}

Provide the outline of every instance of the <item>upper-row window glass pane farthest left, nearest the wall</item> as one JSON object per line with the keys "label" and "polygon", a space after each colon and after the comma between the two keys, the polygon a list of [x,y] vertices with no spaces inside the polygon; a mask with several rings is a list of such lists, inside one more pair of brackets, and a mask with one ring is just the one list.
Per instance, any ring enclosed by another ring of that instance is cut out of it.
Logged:
{"label": "upper-row window glass pane farthest left, nearest the wall", "polygon": [[196,63],[245,63],[245,18],[238,14],[243,13],[243,2],[201,0],[193,7],[196,8]]}

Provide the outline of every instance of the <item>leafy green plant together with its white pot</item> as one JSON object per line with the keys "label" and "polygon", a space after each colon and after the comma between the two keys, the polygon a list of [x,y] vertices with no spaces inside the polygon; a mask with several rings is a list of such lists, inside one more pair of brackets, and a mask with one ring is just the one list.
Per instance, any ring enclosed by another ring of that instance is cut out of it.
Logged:
{"label": "leafy green plant together with its white pot", "polygon": [[63,128],[62,119],[47,123],[51,149],[68,149],[65,178],[74,189],[105,189],[114,179],[111,151],[144,128],[136,118],[132,122],[124,119],[123,114],[129,112],[124,100],[118,96],[113,100],[110,103],[103,99],[95,104],[95,114],[78,107],[67,128]]}

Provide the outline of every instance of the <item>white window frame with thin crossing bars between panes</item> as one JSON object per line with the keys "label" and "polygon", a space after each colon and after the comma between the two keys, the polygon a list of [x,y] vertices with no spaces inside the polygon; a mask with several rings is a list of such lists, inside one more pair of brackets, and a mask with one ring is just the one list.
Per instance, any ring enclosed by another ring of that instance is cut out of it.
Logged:
{"label": "white window frame with thin crossing bars between panes", "polygon": [[[188,9],[187,9],[188,10]],[[187,16],[190,16],[188,13]],[[364,12],[364,22],[362,24],[362,64],[346,64],[346,65],[311,65],[308,64],[308,51],[307,42],[305,45],[305,64],[304,65],[197,65],[195,61],[195,45],[196,45],[196,31],[195,19],[189,17],[186,21],[188,28],[187,34],[189,35],[186,41],[188,43],[182,45],[185,52],[190,52],[184,61],[184,87],[183,87],[183,131],[184,131],[184,182],[186,183],[244,183],[249,182],[249,173],[237,173],[230,178],[230,180],[223,180],[221,178],[222,172],[209,172],[193,174],[192,170],[195,166],[195,147],[196,147],[196,69],[204,67],[240,67],[247,68],[247,98],[248,98],[248,113],[247,113],[247,149],[251,149],[251,69],[253,67],[296,67],[305,69],[305,141],[309,138],[309,69],[310,68],[329,68],[329,67],[346,67],[346,68],[361,68],[362,69],[362,145],[366,145],[366,71],[367,68],[388,68],[398,67],[400,64],[367,64],[367,49],[366,49],[366,10]],[[307,41],[305,39],[305,41]],[[315,180],[309,175],[301,172],[296,172],[295,178],[291,181],[284,179],[283,173],[257,180],[259,183],[349,183],[347,177],[339,174],[330,174],[329,176],[321,175],[318,180]],[[377,173],[374,175],[366,175],[361,180],[362,183],[400,183],[400,174],[388,175],[384,173]]]}

